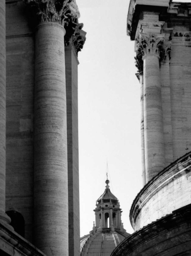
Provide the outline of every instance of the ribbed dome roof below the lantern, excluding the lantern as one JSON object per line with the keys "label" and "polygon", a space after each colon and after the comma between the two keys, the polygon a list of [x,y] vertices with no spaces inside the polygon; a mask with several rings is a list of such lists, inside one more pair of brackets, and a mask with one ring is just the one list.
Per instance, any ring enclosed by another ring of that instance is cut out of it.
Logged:
{"label": "ribbed dome roof below the lantern, excluding the lantern", "polygon": [[127,232],[102,230],[80,239],[81,256],[110,256],[112,251],[130,234]]}

